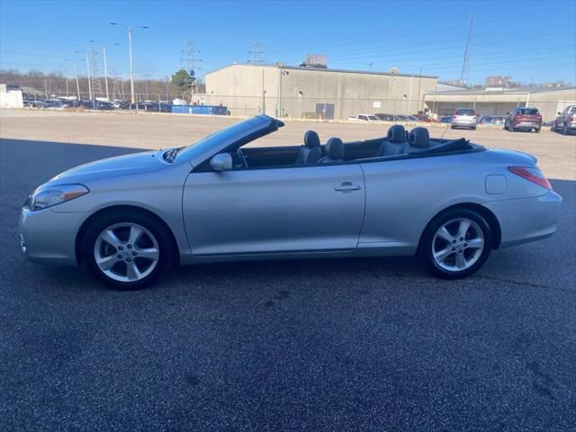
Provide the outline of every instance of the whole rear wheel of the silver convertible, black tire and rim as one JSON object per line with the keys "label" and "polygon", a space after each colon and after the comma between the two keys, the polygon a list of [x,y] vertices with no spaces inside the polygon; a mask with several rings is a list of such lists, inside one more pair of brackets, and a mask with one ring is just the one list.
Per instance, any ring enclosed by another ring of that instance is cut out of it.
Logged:
{"label": "whole rear wheel of the silver convertible, black tire and rim", "polygon": [[490,224],[482,215],[453,209],[441,212],[428,223],[417,256],[432,275],[459,279],[478,271],[490,257],[491,249]]}

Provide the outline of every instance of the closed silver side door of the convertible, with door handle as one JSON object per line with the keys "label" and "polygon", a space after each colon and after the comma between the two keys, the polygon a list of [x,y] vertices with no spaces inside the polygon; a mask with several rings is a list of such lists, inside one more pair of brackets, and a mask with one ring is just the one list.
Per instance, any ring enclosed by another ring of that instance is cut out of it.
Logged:
{"label": "closed silver side door of the convertible, with door handle", "polygon": [[195,256],[353,249],[364,210],[357,164],[193,172],[184,184]]}

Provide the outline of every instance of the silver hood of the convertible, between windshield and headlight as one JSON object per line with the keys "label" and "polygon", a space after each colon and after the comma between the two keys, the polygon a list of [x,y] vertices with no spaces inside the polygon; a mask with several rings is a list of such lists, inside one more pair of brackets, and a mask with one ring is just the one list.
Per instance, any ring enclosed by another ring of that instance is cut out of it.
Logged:
{"label": "silver hood of the convertible, between windshield and headlight", "polygon": [[110,157],[85,165],[76,166],[56,175],[50,181],[62,183],[82,183],[119,175],[148,173],[170,166],[162,158],[166,150],[146,151],[126,156]]}

